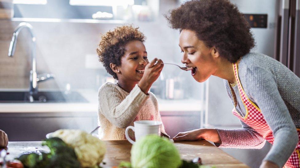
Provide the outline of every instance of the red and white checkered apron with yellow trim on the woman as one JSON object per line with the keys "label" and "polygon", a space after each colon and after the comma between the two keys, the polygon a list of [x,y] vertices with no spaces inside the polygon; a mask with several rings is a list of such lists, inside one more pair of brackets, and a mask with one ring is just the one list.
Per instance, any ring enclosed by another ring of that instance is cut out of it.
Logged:
{"label": "red and white checkered apron with yellow trim on the woman", "polygon": [[[239,94],[243,100],[243,104],[246,108],[246,115],[245,117],[242,117],[239,113],[236,112],[235,108],[233,108],[232,113],[237,116],[240,120],[242,120],[244,123],[255,129],[258,133],[260,133],[268,142],[273,144],[274,142],[274,136],[272,133],[272,130],[270,129],[270,126],[267,124],[265,118],[263,117],[263,114],[261,113],[261,110],[258,106],[253,103],[248,96],[246,95],[242,84],[239,80],[239,74],[238,74],[238,65],[235,63],[233,64],[233,69],[235,73],[235,79],[237,81],[237,85],[239,88]],[[236,97],[234,94],[233,89],[231,88],[232,95],[234,97],[234,103],[235,106],[237,104]],[[297,129],[298,136],[300,139],[300,129]],[[295,151],[292,153],[290,158],[287,160],[284,167],[300,167],[300,142],[298,142]]]}

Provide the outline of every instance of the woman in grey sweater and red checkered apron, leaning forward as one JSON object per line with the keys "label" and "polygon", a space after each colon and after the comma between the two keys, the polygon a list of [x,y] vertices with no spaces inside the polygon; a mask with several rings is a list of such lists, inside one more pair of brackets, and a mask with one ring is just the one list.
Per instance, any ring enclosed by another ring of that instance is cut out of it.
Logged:
{"label": "woman in grey sweater and red checkered apron, leaning forward", "polygon": [[217,147],[273,144],[261,167],[299,167],[300,79],[273,58],[250,53],[250,26],[228,0],[193,0],[166,16],[180,30],[181,62],[198,82],[224,79],[241,129],[196,129],[173,140],[205,139]]}

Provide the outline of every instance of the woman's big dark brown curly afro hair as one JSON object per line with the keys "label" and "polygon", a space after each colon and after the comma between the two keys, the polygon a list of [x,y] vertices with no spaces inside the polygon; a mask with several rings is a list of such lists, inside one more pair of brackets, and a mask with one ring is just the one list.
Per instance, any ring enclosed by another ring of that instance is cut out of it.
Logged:
{"label": "woman's big dark brown curly afro hair", "polygon": [[188,1],[165,17],[170,27],[196,32],[207,47],[215,46],[232,63],[255,46],[249,23],[229,0]]}

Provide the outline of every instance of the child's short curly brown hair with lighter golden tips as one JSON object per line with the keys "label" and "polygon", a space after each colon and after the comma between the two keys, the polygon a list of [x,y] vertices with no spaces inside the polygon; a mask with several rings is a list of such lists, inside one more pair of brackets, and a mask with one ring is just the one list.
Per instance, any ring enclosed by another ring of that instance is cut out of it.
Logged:
{"label": "child's short curly brown hair with lighter golden tips", "polygon": [[125,53],[126,43],[139,40],[144,43],[145,35],[133,25],[116,27],[113,31],[102,35],[97,54],[99,61],[102,62],[106,71],[118,80],[116,73],[110,68],[110,63],[117,66],[121,65],[121,57]]}

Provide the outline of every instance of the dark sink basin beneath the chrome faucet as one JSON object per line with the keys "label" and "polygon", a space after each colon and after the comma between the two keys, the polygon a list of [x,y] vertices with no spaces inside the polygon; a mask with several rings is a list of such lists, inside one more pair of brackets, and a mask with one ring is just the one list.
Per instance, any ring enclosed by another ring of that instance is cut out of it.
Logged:
{"label": "dark sink basin beneath the chrome faucet", "polygon": [[[78,92],[71,91],[65,94],[61,91],[39,91],[33,95],[33,103],[76,103],[88,101]],[[28,103],[28,91],[0,91],[0,103]]]}

